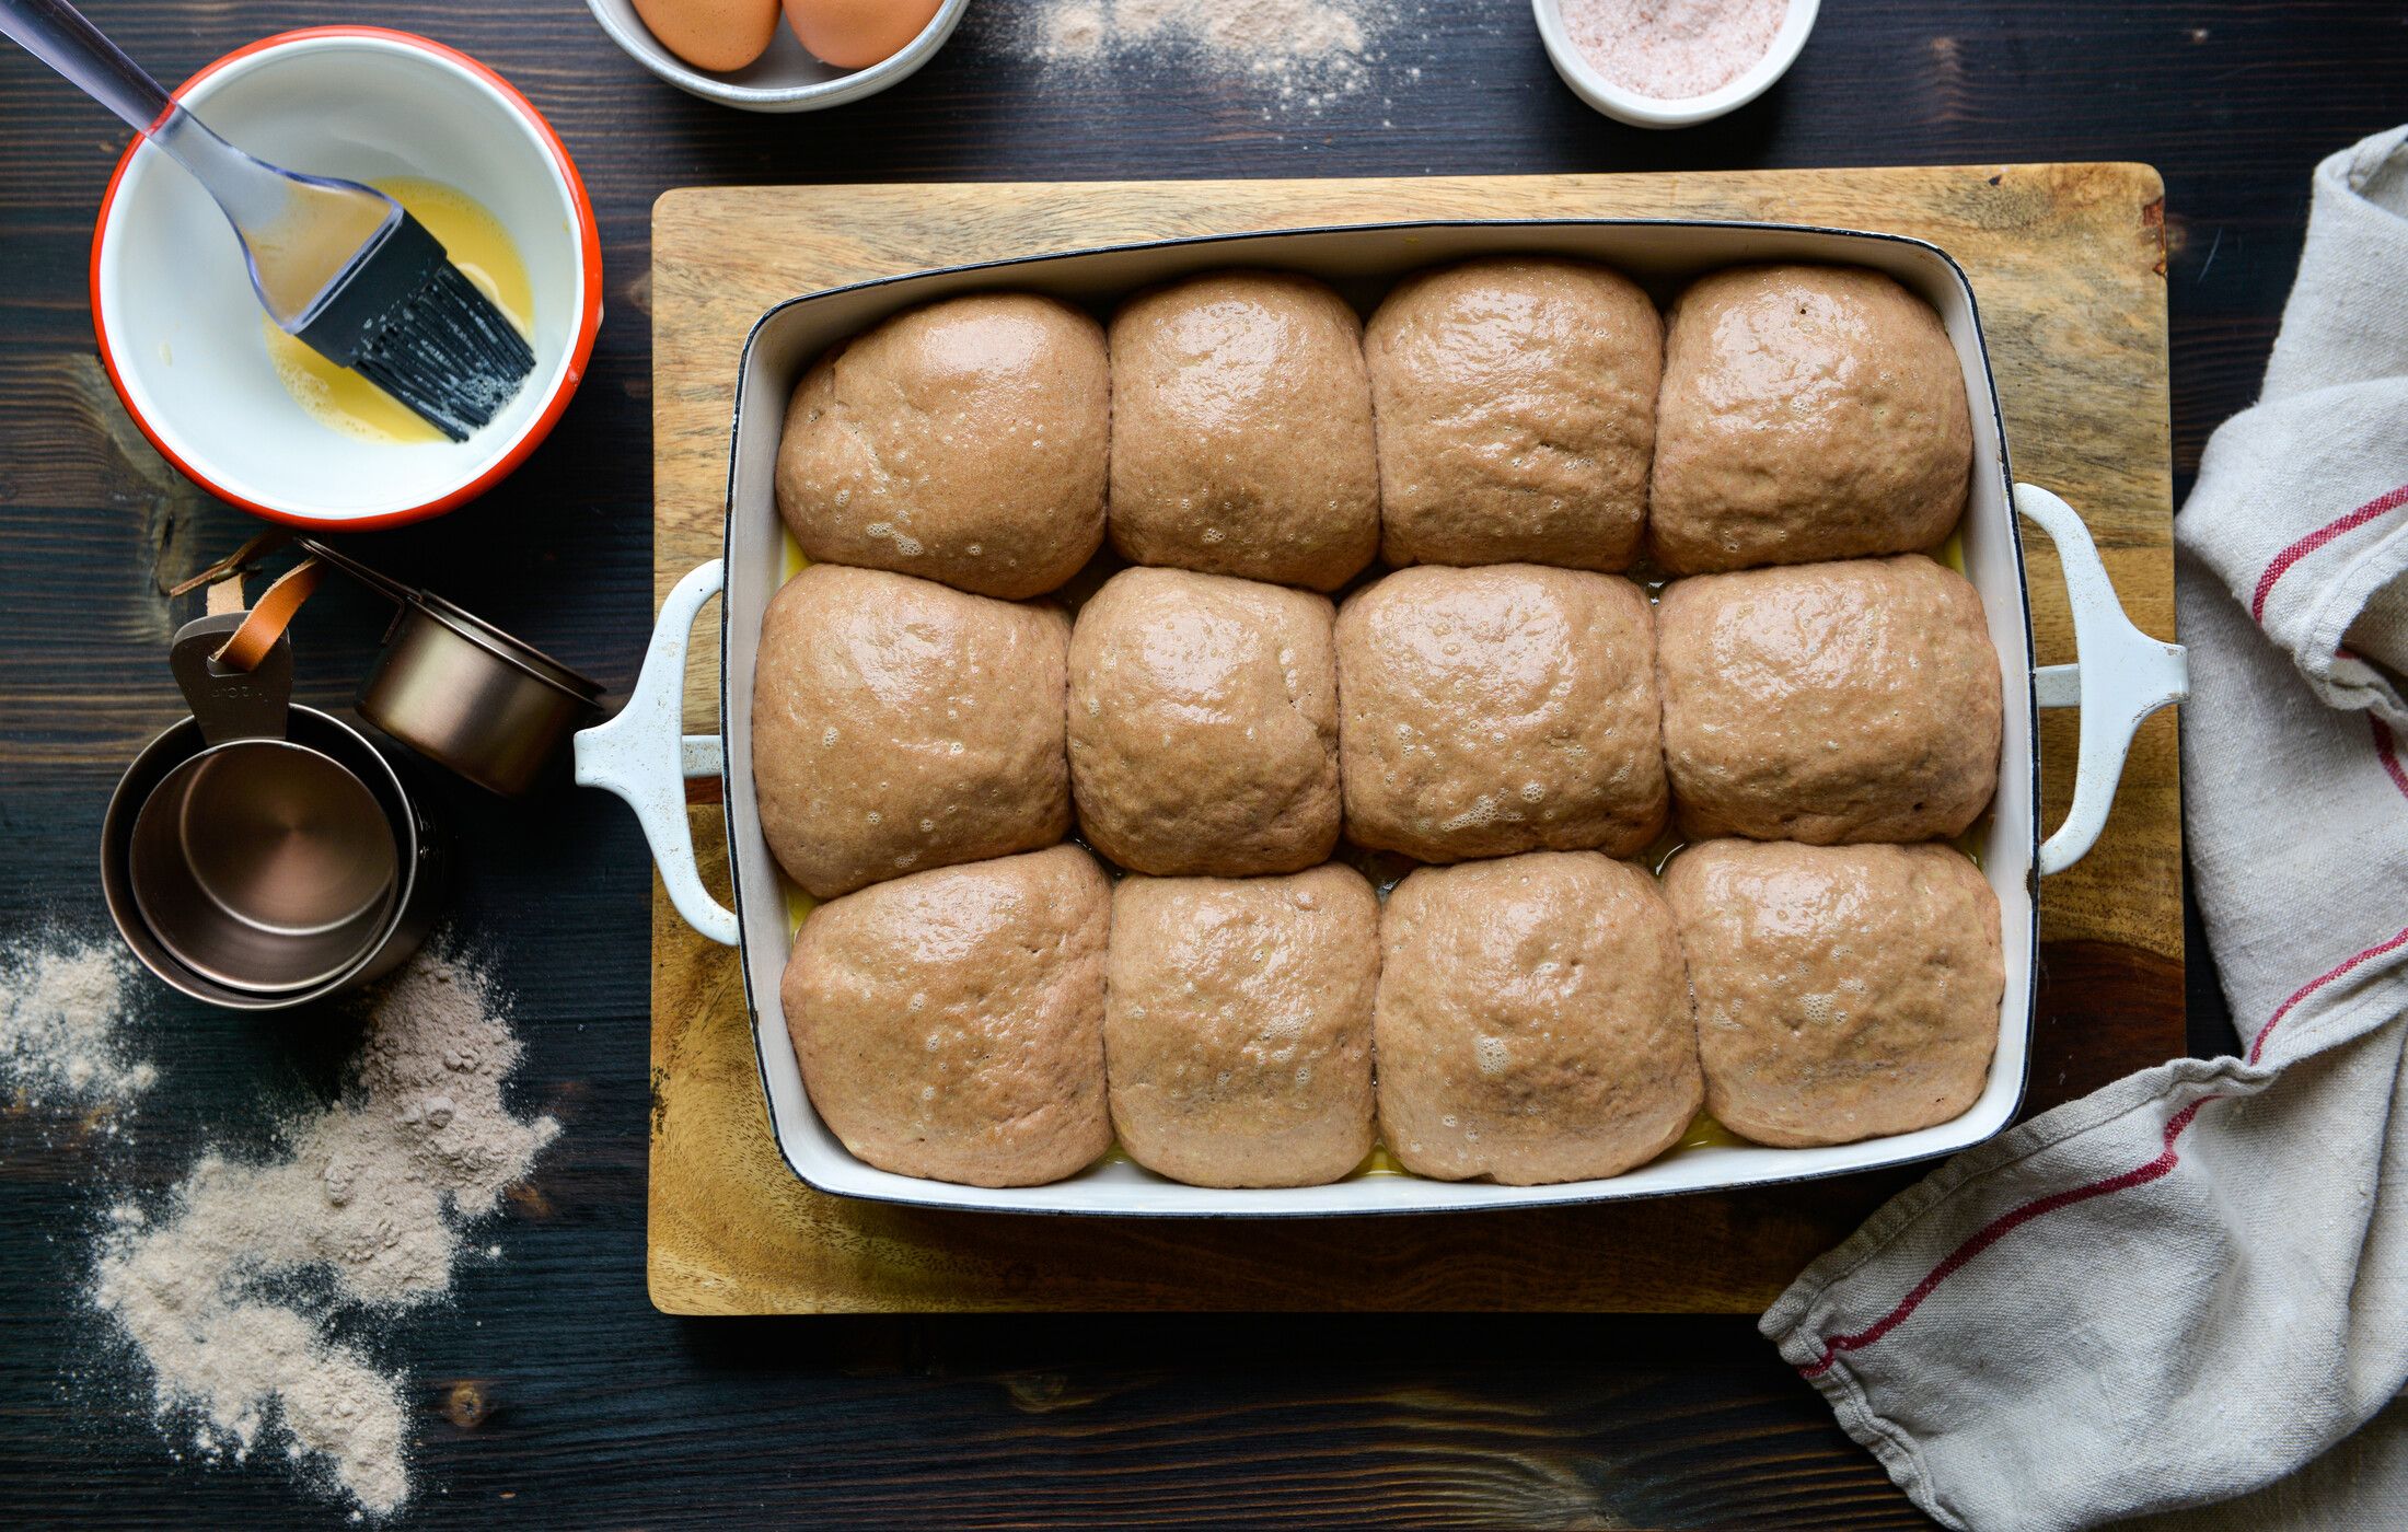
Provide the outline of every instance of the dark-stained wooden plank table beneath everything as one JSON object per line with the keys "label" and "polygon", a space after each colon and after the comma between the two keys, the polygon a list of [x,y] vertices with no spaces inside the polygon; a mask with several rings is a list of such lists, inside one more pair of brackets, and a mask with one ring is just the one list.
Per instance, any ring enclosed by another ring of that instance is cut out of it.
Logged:
{"label": "dark-stained wooden plank table beneath everything", "polygon": [[[905,87],[804,118],[655,84],[576,0],[89,10],[169,79],[287,26],[407,26],[551,118],[604,229],[585,390],[498,494],[366,544],[614,684],[650,612],[645,231],[669,185],[2146,159],[2167,181],[2186,484],[2256,390],[2309,166],[2408,113],[2398,0],[1830,0],[1780,89],[1678,135],[1580,106],[1519,0],[1399,0],[1387,99],[1271,120],[1192,75],[1033,70],[1014,0],[980,0]],[[246,532],[149,450],[94,359],[84,260],[120,147],[111,118],[0,51],[0,935],[106,927],[101,807],[176,711],[159,578]],[[376,626],[366,602],[320,597],[308,699],[347,696]],[[566,1137],[496,1226],[503,1260],[371,1342],[419,1409],[412,1525],[1919,1522],[1746,1320],[667,1320],[643,1294],[636,826],[600,795],[506,809],[431,790],[465,853],[458,925],[520,997],[523,1098]],[[2215,1050],[2230,1024],[2196,930],[2191,951],[2191,1041]],[[0,1110],[0,1522],[340,1522],[279,1472],[171,1462],[77,1286],[111,1195],[171,1185],[205,1139],[265,1144],[335,1084],[349,1038],[327,1014],[164,1000],[144,1036],[166,1079],[130,1142]]]}

